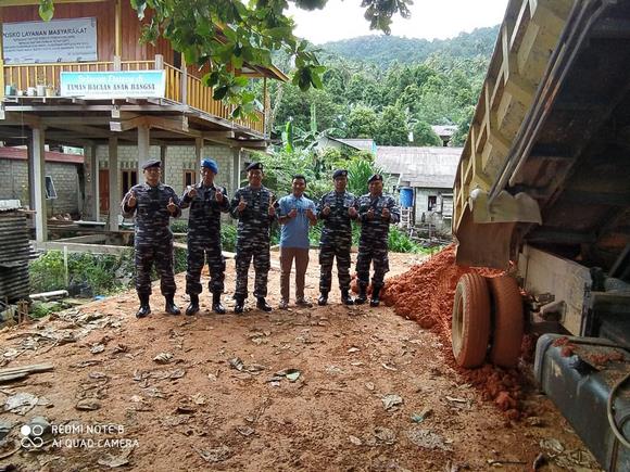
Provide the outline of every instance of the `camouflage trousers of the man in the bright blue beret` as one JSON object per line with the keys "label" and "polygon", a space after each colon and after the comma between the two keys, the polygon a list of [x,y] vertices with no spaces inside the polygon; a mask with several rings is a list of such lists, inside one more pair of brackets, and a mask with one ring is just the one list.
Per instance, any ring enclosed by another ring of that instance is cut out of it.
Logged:
{"label": "camouflage trousers of the man in the bright blue beret", "polygon": [[210,270],[209,292],[223,293],[225,280],[225,258],[220,253],[220,240],[211,241],[210,244],[188,243],[188,270],[186,271],[186,293],[199,295],[201,288],[201,269],[207,261]]}

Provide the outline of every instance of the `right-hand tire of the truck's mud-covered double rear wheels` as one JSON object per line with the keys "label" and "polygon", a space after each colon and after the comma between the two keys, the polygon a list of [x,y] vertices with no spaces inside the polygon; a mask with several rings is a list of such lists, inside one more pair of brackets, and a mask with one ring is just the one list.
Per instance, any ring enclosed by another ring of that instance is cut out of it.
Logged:
{"label": "right-hand tire of the truck's mud-covered double rear wheels", "polygon": [[494,305],[494,332],[490,359],[501,367],[514,367],[520,355],[524,317],[522,297],[516,280],[509,276],[489,280]]}

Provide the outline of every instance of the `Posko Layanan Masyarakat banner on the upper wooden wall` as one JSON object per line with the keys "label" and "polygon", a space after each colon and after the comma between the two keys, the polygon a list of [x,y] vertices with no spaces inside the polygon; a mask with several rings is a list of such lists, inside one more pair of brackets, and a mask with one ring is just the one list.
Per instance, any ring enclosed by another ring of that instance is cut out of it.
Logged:
{"label": "Posko Layanan Masyarakat banner on the upper wooden wall", "polygon": [[97,61],[97,18],[4,23],[5,64]]}

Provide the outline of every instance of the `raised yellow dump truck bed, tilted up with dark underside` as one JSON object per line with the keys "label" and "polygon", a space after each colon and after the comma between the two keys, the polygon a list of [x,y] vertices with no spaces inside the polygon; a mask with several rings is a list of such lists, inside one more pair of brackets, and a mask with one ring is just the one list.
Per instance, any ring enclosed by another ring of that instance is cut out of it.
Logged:
{"label": "raised yellow dump truck bed, tilted up with dark underside", "polygon": [[455,180],[458,264],[630,277],[630,1],[511,1]]}

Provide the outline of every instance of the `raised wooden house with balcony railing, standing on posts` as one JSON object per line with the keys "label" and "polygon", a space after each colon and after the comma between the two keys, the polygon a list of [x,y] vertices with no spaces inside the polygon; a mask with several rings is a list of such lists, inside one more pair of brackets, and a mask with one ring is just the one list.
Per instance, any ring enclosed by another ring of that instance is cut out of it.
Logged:
{"label": "raised wooden house with balcony railing, standing on posts", "polygon": [[202,84],[207,65],[186,64],[162,38],[140,41],[142,24],[128,1],[55,0],[52,21],[42,22],[37,1],[0,1],[0,141],[27,143],[37,242],[48,239],[51,201],[38,190],[47,145],[83,148],[83,217],[108,220],[112,231],[122,193],[150,157],[163,161],[164,180],[177,191],[199,178],[204,155],[218,157],[222,183],[238,184],[249,150],[268,145],[266,81],[288,80],[281,71],[243,63],[240,75],[264,82],[257,99],[265,110],[235,120],[234,105],[214,100]]}

